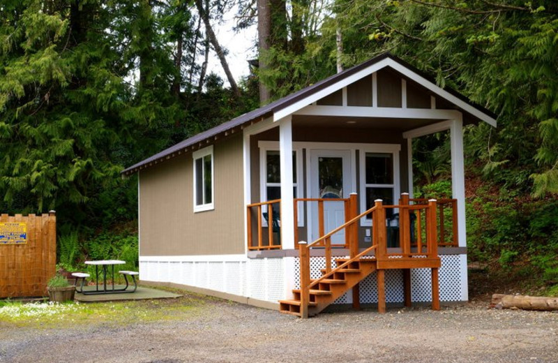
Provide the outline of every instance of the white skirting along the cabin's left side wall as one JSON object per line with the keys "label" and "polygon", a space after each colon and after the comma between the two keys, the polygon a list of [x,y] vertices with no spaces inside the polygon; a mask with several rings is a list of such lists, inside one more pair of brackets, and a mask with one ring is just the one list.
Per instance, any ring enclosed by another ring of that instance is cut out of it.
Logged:
{"label": "white skirting along the cabin's left side wall", "polygon": [[140,279],[269,302],[285,299],[285,261],[246,255],[140,256]]}

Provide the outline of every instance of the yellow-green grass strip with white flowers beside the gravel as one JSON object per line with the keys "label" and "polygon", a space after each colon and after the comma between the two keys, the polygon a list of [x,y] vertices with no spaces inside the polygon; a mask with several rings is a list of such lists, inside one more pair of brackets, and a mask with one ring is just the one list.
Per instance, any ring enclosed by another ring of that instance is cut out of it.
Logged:
{"label": "yellow-green grass strip with white flowers beside the gravel", "polygon": [[[174,290],[176,291],[176,290]],[[198,316],[207,300],[181,291],[176,299],[123,302],[10,302],[0,301],[0,327],[64,328],[83,325],[131,325]]]}

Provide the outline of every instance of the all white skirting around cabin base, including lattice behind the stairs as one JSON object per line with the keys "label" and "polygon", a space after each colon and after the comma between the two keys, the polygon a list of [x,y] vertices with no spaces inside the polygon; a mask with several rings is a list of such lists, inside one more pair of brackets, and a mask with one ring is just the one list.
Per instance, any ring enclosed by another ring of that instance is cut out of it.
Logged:
{"label": "all white skirting around cabin base, including lattice behind the stairs", "polygon": [[[467,255],[442,255],[440,300],[467,301]],[[334,264],[335,262],[333,262]],[[310,260],[310,276],[317,279],[325,258]],[[140,279],[169,282],[277,302],[300,288],[298,258],[247,258],[246,255],[140,256]],[[413,302],[430,302],[430,269],[412,269]],[[377,302],[376,274],[361,281],[361,303]],[[403,301],[401,270],[386,271],[386,302]],[[352,302],[347,293],[335,304]]]}

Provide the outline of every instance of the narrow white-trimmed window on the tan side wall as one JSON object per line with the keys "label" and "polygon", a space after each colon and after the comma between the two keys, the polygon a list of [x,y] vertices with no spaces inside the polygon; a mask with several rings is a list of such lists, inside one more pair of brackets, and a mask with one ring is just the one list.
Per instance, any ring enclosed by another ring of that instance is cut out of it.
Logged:
{"label": "narrow white-trimmed window on the tan side wall", "polygon": [[214,209],[213,145],[195,151],[194,159],[194,212]]}

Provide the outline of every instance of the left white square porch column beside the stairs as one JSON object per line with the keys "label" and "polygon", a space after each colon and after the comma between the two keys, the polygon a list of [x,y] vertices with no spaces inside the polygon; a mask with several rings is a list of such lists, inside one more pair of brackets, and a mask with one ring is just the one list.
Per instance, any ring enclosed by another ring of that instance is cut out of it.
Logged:
{"label": "left white square porch column beside the stairs", "polygon": [[292,116],[279,120],[281,170],[281,244],[294,249],[294,196],[292,193]]}

